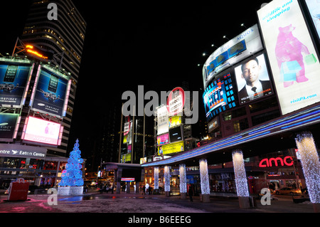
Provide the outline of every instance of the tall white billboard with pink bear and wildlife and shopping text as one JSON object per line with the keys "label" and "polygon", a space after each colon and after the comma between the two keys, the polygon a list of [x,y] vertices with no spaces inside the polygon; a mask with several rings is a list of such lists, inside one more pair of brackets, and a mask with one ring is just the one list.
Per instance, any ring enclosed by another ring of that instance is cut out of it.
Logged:
{"label": "tall white billboard with pink bear and wildlife and shopping text", "polygon": [[320,101],[320,64],[297,0],[257,11],[282,115]]}

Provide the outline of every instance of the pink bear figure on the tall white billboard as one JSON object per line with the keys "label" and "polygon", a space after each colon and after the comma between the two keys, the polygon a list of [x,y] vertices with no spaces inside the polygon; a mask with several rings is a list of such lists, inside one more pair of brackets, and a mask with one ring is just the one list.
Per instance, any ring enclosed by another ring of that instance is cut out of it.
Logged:
{"label": "pink bear figure on the tall white billboard", "polygon": [[[302,83],[308,80],[304,75],[304,58],[302,53],[309,54],[309,50],[303,43],[292,35],[292,31],[294,31],[294,29],[295,27],[292,26],[292,24],[285,27],[279,27],[275,55],[277,57],[279,69],[281,69],[282,63],[297,60],[302,68],[297,72],[297,83]],[[293,83],[294,81],[284,81],[284,88],[293,85]]]}

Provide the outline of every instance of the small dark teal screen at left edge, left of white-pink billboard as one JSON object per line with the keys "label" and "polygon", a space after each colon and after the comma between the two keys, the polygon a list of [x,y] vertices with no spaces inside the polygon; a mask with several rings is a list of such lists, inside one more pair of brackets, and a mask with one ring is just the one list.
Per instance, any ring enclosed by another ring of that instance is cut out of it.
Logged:
{"label": "small dark teal screen at left edge, left of white-pink billboard", "polygon": [[0,113],[0,141],[13,141],[18,128],[18,119],[18,114]]}

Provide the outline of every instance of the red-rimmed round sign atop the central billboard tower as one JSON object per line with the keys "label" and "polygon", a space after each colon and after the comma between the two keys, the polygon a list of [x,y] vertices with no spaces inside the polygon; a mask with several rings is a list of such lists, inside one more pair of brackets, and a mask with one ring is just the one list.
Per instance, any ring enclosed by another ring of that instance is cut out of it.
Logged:
{"label": "red-rimmed round sign atop the central billboard tower", "polygon": [[180,87],[171,90],[171,93],[166,100],[166,107],[169,115],[176,115],[183,110],[185,102],[184,90]]}

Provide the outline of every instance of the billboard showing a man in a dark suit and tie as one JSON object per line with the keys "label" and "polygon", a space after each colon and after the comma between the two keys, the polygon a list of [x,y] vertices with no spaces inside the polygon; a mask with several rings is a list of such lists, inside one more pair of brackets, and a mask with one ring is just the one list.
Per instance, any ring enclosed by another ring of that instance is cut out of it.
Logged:
{"label": "billboard showing a man in a dark suit and tie", "polygon": [[235,80],[237,80],[240,104],[272,94],[272,85],[263,53],[255,58],[244,60],[241,65],[235,67]]}

